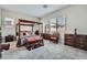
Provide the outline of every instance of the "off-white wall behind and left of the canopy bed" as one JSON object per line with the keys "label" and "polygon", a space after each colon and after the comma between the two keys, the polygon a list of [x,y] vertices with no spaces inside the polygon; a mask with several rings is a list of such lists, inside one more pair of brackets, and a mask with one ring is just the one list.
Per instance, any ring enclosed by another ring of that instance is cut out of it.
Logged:
{"label": "off-white wall behind and left of the canopy bed", "polygon": [[[17,12],[8,11],[8,10],[4,10],[4,9],[1,9],[1,13],[2,13],[2,18],[14,19],[14,23],[18,23],[18,19],[26,19],[26,20],[39,21],[34,17],[30,17],[30,15],[17,13]],[[2,23],[4,21],[2,21]],[[9,35],[9,34],[15,35],[15,24],[11,29],[4,28],[4,25],[2,25],[2,36]]]}

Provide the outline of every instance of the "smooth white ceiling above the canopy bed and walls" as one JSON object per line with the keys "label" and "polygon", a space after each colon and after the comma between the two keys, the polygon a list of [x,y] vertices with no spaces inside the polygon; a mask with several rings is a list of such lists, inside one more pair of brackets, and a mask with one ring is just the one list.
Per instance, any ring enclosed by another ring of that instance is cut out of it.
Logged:
{"label": "smooth white ceiling above the canopy bed and walls", "polygon": [[43,8],[43,4],[1,4],[0,7],[10,11],[41,18],[66,7],[66,4],[48,4],[47,8]]}

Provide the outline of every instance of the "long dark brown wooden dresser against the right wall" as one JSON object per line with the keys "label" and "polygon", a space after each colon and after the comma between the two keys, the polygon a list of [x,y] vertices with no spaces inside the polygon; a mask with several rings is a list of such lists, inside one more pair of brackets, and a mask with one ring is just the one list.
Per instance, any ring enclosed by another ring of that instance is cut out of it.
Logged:
{"label": "long dark brown wooden dresser against the right wall", "polygon": [[87,35],[65,34],[65,45],[87,50]]}

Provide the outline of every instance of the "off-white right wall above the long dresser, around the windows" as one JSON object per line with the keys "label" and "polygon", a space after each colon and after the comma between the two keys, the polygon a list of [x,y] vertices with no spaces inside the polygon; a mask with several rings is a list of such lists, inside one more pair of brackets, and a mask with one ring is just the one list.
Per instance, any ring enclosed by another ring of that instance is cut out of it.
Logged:
{"label": "off-white right wall above the long dresser, around the windows", "polygon": [[58,29],[61,39],[64,40],[64,33],[74,34],[74,29],[77,29],[78,34],[87,34],[87,6],[68,6],[56,12],[53,12],[42,19],[42,22],[47,22],[51,18],[66,18],[66,26]]}

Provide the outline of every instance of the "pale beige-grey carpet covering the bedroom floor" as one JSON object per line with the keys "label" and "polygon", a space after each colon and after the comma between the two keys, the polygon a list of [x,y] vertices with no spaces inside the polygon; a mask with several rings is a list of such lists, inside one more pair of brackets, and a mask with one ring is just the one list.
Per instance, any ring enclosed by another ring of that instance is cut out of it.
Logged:
{"label": "pale beige-grey carpet covering the bedroom floor", "polygon": [[86,59],[87,51],[66,46],[63,43],[54,44],[44,41],[44,46],[28,51],[25,47],[15,47],[11,42],[9,51],[2,52],[2,59]]}

